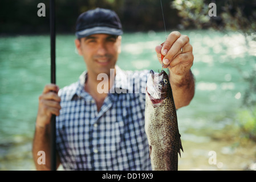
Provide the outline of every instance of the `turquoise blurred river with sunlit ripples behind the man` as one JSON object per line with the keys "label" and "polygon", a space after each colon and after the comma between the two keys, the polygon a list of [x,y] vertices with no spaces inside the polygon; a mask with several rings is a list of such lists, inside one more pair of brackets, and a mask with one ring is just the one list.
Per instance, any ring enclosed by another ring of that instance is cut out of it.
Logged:
{"label": "turquoise blurred river with sunlit ripples behind the man", "polygon": [[[237,112],[248,86],[243,71],[255,65],[256,43],[238,32],[181,31],[193,46],[196,94],[177,111],[184,152],[180,170],[256,169],[256,145],[241,138]],[[62,88],[86,69],[74,35],[56,36],[56,83]],[[161,69],[155,46],[164,32],[126,33],[117,65],[125,70]],[[32,138],[38,96],[50,82],[48,35],[0,37],[0,170],[34,170]]]}

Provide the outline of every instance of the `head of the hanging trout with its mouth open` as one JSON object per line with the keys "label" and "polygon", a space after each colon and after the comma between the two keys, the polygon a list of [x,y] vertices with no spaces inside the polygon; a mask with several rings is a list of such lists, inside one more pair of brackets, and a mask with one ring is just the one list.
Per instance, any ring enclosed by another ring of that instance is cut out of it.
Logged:
{"label": "head of the hanging trout with its mouth open", "polygon": [[165,71],[154,73],[150,71],[147,80],[146,93],[148,94],[153,105],[160,104],[171,92],[169,77]]}

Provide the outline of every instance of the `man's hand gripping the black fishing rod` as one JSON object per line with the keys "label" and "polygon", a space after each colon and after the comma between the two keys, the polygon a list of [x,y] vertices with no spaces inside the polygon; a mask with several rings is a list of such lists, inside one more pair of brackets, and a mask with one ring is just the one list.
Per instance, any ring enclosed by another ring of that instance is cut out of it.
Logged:
{"label": "man's hand gripping the black fishing rod", "polygon": [[39,96],[36,127],[45,127],[50,123],[52,114],[59,115],[61,107],[58,92],[59,87],[55,84],[44,86],[43,93]]}

